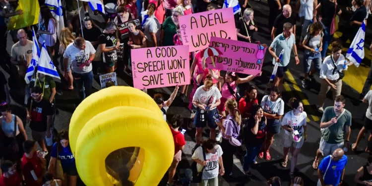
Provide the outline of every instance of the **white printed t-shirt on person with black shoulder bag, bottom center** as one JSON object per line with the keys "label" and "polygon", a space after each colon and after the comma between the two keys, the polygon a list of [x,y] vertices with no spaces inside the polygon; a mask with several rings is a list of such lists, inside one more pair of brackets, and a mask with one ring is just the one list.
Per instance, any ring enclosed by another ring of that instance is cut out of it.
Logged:
{"label": "white printed t-shirt on person with black shoulder bag, bottom center", "polygon": [[[223,152],[220,145],[217,145],[217,152],[215,154],[209,153],[205,154],[205,159],[208,162],[207,165],[204,167],[203,176],[201,177],[202,180],[212,179],[218,176],[218,157],[221,157]],[[199,159],[204,161],[203,157],[203,147],[197,147],[195,149],[194,154],[192,154],[192,159]],[[203,167],[200,164],[196,164],[196,168],[200,171]]]}

